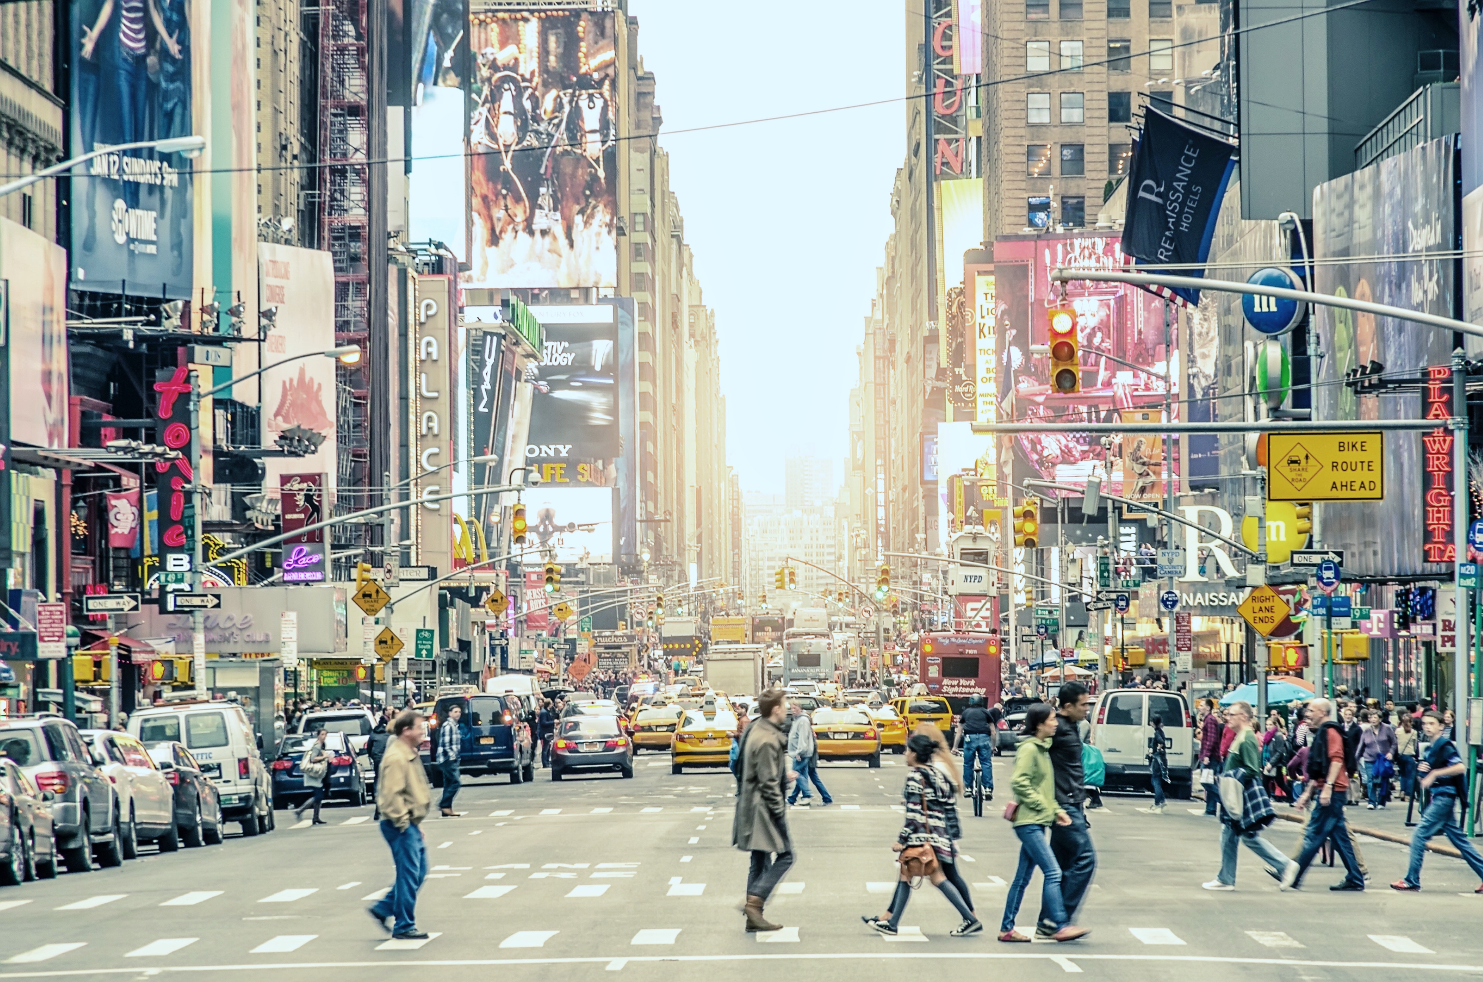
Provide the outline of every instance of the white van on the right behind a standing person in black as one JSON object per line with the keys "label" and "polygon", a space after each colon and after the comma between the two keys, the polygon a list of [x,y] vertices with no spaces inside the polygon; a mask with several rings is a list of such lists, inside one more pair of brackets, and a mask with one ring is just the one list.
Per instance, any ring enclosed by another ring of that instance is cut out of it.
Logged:
{"label": "white van on the right behind a standing person in black", "polygon": [[1111,688],[1097,696],[1091,709],[1089,743],[1102,751],[1108,776],[1105,788],[1148,789],[1148,739],[1151,719],[1160,716],[1169,749],[1169,797],[1188,798],[1194,765],[1194,719],[1179,693],[1157,688]]}

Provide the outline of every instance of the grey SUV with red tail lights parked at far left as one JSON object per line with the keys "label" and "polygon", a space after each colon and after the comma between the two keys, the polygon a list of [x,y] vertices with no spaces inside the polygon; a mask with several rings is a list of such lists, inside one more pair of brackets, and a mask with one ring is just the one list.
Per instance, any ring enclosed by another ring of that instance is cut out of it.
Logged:
{"label": "grey SUV with red tail lights parked at far left", "polygon": [[70,719],[0,719],[0,757],[9,757],[33,785],[52,792],[52,826],[68,872],[123,863],[119,795],[92,762]]}

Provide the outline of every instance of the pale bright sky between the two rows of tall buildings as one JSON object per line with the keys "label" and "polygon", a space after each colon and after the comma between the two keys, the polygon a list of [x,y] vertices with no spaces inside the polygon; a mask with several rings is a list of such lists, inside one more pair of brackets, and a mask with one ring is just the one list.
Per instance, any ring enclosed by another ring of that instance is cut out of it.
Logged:
{"label": "pale bright sky between the two rows of tall buildings", "polygon": [[673,134],[905,95],[902,0],[629,0],[655,76],[670,187],[721,334],[727,460],[783,492],[783,460],[848,452],[856,346],[891,231],[905,107]]}

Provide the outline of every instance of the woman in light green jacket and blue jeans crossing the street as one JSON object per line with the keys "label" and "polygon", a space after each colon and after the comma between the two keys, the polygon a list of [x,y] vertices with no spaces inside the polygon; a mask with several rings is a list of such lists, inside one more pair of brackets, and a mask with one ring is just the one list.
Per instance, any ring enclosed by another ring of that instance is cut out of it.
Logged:
{"label": "woman in light green jacket and blue jeans crossing the street", "polygon": [[[1060,866],[1050,851],[1050,825],[1071,825],[1071,816],[1056,804],[1056,771],[1050,764],[1050,737],[1056,733],[1056,714],[1046,703],[1035,703],[1025,712],[1025,734],[1029,737],[1014,752],[1014,777],[1010,789],[1014,794],[1014,835],[1020,841],[1019,868],[1014,883],[1004,899],[1004,920],[1000,923],[1000,940],[1028,942],[1029,937],[1014,930],[1014,915],[1019,914],[1025,887],[1040,866],[1041,909],[1056,921],[1056,940],[1075,940],[1087,933],[1086,927],[1072,927],[1066,918],[1066,905],[1060,896]],[[1010,817],[1005,813],[1005,817]]]}

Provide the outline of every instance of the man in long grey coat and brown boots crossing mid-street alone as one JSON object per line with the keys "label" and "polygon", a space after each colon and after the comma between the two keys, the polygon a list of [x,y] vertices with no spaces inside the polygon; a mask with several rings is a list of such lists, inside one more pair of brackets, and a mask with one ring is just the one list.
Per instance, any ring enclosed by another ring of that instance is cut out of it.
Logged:
{"label": "man in long grey coat and brown boots crossing mid-street alone", "polygon": [[785,765],[787,737],[783,734],[783,694],[776,688],[756,700],[758,719],[746,731],[737,771],[742,794],[731,820],[731,844],[752,853],[746,878],[747,932],[776,932],[762,917],[762,905],[793,865],[793,841],[787,835],[785,794],[792,773]]}

